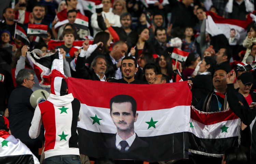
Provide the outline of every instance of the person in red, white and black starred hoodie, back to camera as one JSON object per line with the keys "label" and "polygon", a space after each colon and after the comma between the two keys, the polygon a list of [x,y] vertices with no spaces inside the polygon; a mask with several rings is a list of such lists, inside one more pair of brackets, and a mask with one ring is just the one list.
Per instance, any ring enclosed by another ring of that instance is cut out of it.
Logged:
{"label": "person in red, white and black starred hoodie, back to camera", "polygon": [[55,77],[51,94],[35,108],[29,129],[29,136],[34,139],[44,125],[45,163],[81,163],[76,127],[82,114],[81,103],[72,93],[68,94],[65,79]]}

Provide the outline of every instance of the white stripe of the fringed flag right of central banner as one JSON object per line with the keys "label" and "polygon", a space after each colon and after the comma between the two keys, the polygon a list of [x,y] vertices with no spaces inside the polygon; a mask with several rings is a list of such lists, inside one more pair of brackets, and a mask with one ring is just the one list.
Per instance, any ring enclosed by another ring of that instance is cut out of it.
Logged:
{"label": "white stripe of the fringed flag right of central banner", "polygon": [[[212,125],[204,125],[201,122],[198,122],[191,118],[189,122],[193,126],[193,128],[190,126],[189,132],[193,133],[198,138],[216,139],[216,138],[236,137],[236,136],[239,136],[239,132],[240,132],[239,119],[217,122],[216,124],[212,124]],[[225,127],[228,127],[227,132],[222,132],[221,128],[223,128],[224,125]]]}

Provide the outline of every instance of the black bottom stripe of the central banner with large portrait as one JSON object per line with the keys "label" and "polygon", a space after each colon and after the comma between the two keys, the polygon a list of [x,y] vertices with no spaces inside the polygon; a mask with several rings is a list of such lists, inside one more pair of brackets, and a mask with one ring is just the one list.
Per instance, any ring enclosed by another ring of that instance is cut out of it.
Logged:
{"label": "black bottom stripe of the central banner with large portrait", "polygon": [[187,132],[139,137],[139,139],[136,138],[134,140],[128,152],[121,153],[115,148],[116,134],[97,133],[82,128],[77,128],[77,131],[79,134],[78,145],[80,154],[85,154],[89,157],[108,157],[111,159],[130,159],[148,162],[188,158]]}

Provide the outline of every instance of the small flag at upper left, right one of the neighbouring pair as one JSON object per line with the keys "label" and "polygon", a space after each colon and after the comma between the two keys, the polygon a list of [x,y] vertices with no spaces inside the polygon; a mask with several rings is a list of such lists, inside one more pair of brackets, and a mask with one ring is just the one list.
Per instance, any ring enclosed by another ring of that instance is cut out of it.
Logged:
{"label": "small flag at upper left, right one of the neighbouring pair", "polygon": [[28,24],[28,36],[34,35],[47,38],[48,26],[43,24]]}

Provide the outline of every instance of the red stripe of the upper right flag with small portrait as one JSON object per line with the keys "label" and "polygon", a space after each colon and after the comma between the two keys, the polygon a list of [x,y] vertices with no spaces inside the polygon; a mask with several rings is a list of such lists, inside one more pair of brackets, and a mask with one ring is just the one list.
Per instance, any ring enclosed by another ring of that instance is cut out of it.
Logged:
{"label": "red stripe of the upper right flag with small portrait", "polygon": [[215,23],[232,24],[232,25],[240,26],[244,29],[246,29],[247,26],[251,23],[251,21],[245,21],[245,20],[226,19],[210,11],[207,11],[206,14],[210,15]]}

